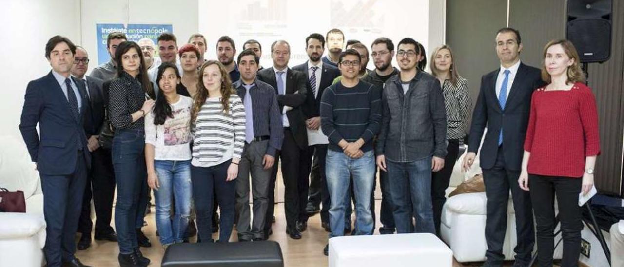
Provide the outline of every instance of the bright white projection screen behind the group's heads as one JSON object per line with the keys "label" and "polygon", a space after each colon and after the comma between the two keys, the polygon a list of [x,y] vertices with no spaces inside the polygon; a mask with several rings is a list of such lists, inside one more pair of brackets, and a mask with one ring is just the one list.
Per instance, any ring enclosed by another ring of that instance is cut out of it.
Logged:
{"label": "bright white projection screen behind the group's heads", "polygon": [[[264,67],[272,65],[273,41],[285,39],[290,43],[289,65],[295,66],[308,59],[305,37],[312,32],[324,35],[334,27],[343,30],[346,39],[357,39],[369,49],[373,40],[381,36],[389,37],[395,45],[404,37],[412,37],[432,49],[442,43],[444,36],[443,20],[429,22],[430,17],[444,17],[444,0],[230,0],[218,2],[218,6],[214,1],[198,2],[200,10],[212,13],[199,17],[199,31],[207,37],[208,59],[215,59],[218,37],[228,35],[236,42],[237,52],[248,39],[260,41],[263,45],[260,64]],[[430,2],[436,7],[431,12]],[[255,16],[262,16],[263,9],[275,12],[275,19],[256,20]],[[338,12],[340,9],[347,12]],[[374,69],[372,61],[368,68]]]}

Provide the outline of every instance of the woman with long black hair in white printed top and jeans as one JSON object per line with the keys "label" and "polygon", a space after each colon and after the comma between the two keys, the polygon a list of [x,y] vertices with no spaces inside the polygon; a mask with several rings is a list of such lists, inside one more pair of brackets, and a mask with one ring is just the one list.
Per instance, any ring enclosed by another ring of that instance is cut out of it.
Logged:
{"label": "woman with long black hair in white printed top and jeans", "polygon": [[177,93],[180,73],[172,63],[158,67],[156,83],[160,90],[154,110],[145,116],[145,163],[147,184],[154,190],[156,200],[156,228],[166,249],[173,243],[182,243],[189,220],[193,100]]}

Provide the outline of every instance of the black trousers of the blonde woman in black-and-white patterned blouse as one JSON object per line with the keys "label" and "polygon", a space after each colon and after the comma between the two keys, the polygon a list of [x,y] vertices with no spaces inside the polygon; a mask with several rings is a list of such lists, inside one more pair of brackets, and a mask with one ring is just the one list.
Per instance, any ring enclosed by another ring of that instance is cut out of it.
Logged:
{"label": "black trousers of the blonde woman in black-and-white patterned blouse", "polygon": [[436,235],[440,235],[440,218],[442,216],[442,206],[446,202],[446,188],[451,182],[453,167],[459,154],[459,139],[448,140],[446,147],[446,157],[444,157],[444,168],[438,172],[431,173],[431,201],[433,204],[433,221],[436,225]]}

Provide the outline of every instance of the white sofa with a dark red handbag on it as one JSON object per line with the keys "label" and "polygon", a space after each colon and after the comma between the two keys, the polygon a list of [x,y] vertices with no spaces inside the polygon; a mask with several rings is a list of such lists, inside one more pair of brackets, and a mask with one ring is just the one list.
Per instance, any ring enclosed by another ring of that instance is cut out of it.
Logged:
{"label": "white sofa with a dark red handbag on it", "polygon": [[0,147],[0,187],[26,198],[26,213],[0,213],[0,266],[41,266],[46,221],[39,173],[21,138],[0,136]]}

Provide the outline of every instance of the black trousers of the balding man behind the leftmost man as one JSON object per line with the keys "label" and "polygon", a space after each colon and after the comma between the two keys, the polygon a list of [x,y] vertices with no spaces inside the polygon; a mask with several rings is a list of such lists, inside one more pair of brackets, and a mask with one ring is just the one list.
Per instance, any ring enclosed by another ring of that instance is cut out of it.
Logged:
{"label": "black trousers of the balding man behind the leftmost man", "polygon": [[78,231],[82,236],[91,236],[91,199],[95,206],[95,236],[107,235],[114,230],[110,226],[115,194],[115,172],[110,150],[98,148],[91,152],[91,170],[87,174],[87,185],[82,197],[82,210]]}

